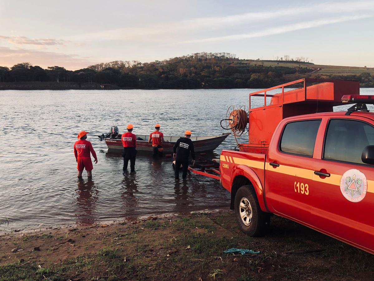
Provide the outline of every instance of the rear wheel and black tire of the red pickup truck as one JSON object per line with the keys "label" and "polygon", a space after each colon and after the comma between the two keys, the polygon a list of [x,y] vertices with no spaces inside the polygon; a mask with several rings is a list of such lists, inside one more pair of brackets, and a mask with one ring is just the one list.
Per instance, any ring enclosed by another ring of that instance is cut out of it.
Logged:
{"label": "rear wheel and black tire of the red pickup truck", "polygon": [[235,194],[235,217],[240,229],[249,236],[262,236],[269,230],[270,214],[258,204],[252,185],[243,185]]}

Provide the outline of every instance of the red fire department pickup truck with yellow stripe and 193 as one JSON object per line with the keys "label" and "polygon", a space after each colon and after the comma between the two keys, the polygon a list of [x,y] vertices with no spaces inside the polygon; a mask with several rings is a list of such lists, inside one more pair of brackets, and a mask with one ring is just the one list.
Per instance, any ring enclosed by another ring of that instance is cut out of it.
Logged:
{"label": "red fire department pickup truck with yellow stripe and 193", "polygon": [[358,95],[357,81],[315,79],[250,94],[264,106],[250,105],[249,142],[220,155],[243,232],[263,235],[275,214],[374,254],[374,96]]}

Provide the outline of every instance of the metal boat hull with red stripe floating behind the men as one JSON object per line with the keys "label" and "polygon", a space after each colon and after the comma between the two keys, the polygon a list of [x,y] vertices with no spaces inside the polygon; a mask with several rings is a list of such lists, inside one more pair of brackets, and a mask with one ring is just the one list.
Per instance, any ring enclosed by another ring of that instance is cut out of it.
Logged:
{"label": "metal boat hull with red stripe floating behind the men", "polygon": [[[211,137],[195,137],[196,140],[193,140],[195,152],[202,152],[202,151],[213,151],[216,149],[230,134],[222,134],[218,136],[211,136]],[[144,136],[144,135],[142,135]],[[138,137],[138,135],[137,135]],[[174,137],[171,137],[171,139]],[[203,139],[199,139],[203,138]],[[143,138],[144,139],[144,138]],[[167,138],[164,138],[167,139]],[[109,139],[105,138],[105,143],[108,146],[108,152],[122,152],[123,145],[120,139]],[[166,142],[163,143],[163,151],[165,153],[172,153],[173,146],[175,142]],[[140,151],[152,151],[152,144],[148,141],[137,141],[137,150]]]}

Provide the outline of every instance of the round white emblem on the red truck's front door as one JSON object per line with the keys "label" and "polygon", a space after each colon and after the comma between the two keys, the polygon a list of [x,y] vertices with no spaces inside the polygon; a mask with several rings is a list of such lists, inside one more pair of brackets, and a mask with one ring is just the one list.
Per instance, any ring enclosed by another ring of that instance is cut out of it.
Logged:
{"label": "round white emblem on the red truck's front door", "polygon": [[368,190],[366,176],[359,170],[347,170],[340,179],[340,190],[350,202],[360,202]]}

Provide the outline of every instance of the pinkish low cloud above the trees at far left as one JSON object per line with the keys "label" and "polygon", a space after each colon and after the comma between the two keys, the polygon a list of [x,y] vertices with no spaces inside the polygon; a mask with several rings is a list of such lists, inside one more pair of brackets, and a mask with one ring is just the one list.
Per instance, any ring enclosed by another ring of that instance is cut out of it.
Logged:
{"label": "pinkish low cloud above the trees at far left", "polygon": [[13,66],[16,63],[30,62],[41,67],[62,66],[66,69],[81,69],[93,63],[89,58],[79,57],[72,54],[45,52],[29,49],[10,49],[0,46],[1,66]]}

